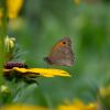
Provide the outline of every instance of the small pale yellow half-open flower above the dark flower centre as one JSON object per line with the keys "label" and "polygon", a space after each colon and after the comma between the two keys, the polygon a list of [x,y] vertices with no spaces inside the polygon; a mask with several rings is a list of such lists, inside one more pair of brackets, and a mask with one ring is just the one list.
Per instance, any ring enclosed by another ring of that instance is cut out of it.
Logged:
{"label": "small pale yellow half-open flower above the dark flower centre", "polygon": [[6,47],[7,47],[8,51],[10,51],[10,48],[13,48],[14,47],[14,41],[15,41],[14,37],[7,36],[4,38],[4,44],[6,44]]}

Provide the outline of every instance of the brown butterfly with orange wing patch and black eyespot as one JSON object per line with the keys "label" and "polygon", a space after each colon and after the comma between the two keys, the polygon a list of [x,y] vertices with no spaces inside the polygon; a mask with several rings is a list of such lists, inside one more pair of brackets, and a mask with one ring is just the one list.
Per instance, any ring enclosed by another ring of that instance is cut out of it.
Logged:
{"label": "brown butterfly with orange wing patch and black eyespot", "polygon": [[44,58],[50,65],[72,66],[74,63],[74,53],[69,37],[59,40],[51,51],[51,54]]}

